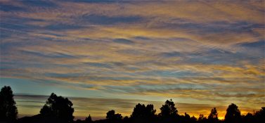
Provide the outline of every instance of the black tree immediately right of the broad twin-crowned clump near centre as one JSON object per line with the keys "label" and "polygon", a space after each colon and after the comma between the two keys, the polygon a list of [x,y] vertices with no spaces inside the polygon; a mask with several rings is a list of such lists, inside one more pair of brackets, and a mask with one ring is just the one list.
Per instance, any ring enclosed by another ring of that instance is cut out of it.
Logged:
{"label": "black tree immediately right of the broad twin-crowned clump near centre", "polygon": [[172,99],[170,99],[170,101],[167,100],[164,105],[162,105],[160,110],[160,116],[163,118],[176,117],[178,115],[178,110],[176,110]]}

